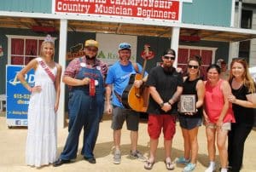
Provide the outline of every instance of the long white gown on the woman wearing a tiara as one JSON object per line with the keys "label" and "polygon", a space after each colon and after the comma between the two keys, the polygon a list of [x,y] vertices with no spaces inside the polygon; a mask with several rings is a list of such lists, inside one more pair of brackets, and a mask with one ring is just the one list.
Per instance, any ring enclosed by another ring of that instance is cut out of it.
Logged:
{"label": "long white gown on the woman wearing a tiara", "polygon": [[[57,67],[50,71],[56,76]],[[35,71],[35,86],[37,85],[42,90],[32,94],[27,112],[26,164],[40,167],[56,160],[57,118],[54,111],[55,85],[39,64]]]}

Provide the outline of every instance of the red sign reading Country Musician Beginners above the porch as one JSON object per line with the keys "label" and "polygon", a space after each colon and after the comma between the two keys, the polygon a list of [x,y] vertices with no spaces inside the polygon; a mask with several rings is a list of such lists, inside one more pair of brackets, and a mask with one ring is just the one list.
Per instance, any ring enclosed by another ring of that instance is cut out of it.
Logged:
{"label": "red sign reading Country Musician Beginners above the porch", "polygon": [[55,0],[53,14],[96,14],[154,20],[179,20],[175,0]]}

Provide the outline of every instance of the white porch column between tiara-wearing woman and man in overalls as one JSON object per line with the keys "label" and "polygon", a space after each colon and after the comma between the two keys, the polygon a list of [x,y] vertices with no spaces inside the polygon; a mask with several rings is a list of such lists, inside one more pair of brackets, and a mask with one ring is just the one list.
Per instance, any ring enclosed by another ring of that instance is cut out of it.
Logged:
{"label": "white porch column between tiara-wearing woman and man in overalls", "polygon": [[[61,19],[60,40],[59,40],[59,64],[62,66],[62,75],[66,68],[66,52],[67,52],[67,20]],[[61,77],[62,77],[61,75]],[[65,120],[65,84],[61,78],[61,95],[58,111],[58,128],[64,128]]]}

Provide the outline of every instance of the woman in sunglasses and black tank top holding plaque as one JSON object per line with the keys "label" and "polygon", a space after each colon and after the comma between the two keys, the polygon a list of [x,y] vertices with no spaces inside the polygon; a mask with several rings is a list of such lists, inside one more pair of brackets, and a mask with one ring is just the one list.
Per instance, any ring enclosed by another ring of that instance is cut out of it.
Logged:
{"label": "woman in sunglasses and black tank top holding plaque", "polygon": [[[178,158],[177,163],[187,164],[183,171],[195,169],[198,152],[197,134],[202,122],[202,105],[205,95],[205,85],[200,77],[201,57],[195,56],[188,62],[188,77],[183,77],[183,95],[195,95],[196,113],[179,113],[179,123],[183,132],[184,157]],[[191,161],[190,161],[191,158]]]}

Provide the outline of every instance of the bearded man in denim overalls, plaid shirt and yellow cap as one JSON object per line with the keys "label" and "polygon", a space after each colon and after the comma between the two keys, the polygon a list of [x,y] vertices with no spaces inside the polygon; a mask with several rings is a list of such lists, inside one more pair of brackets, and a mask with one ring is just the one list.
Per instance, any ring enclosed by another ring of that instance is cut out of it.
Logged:
{"label": "bearded man in denim overalls, plaid shirt and yellow cap", "polygon": [[53,164],[55,167],[70,163],[77,157],[79,134],[83,127],[84,144],[81,154],[89,163],[96,163],[93,150],[104,109],[104,78],[108,66],[96,59],[98,43],[95,40],[85,41],[84,46],[85,55],[72,60],[63,76],[63,82],[70,88],[69,134],[60,158]]}

